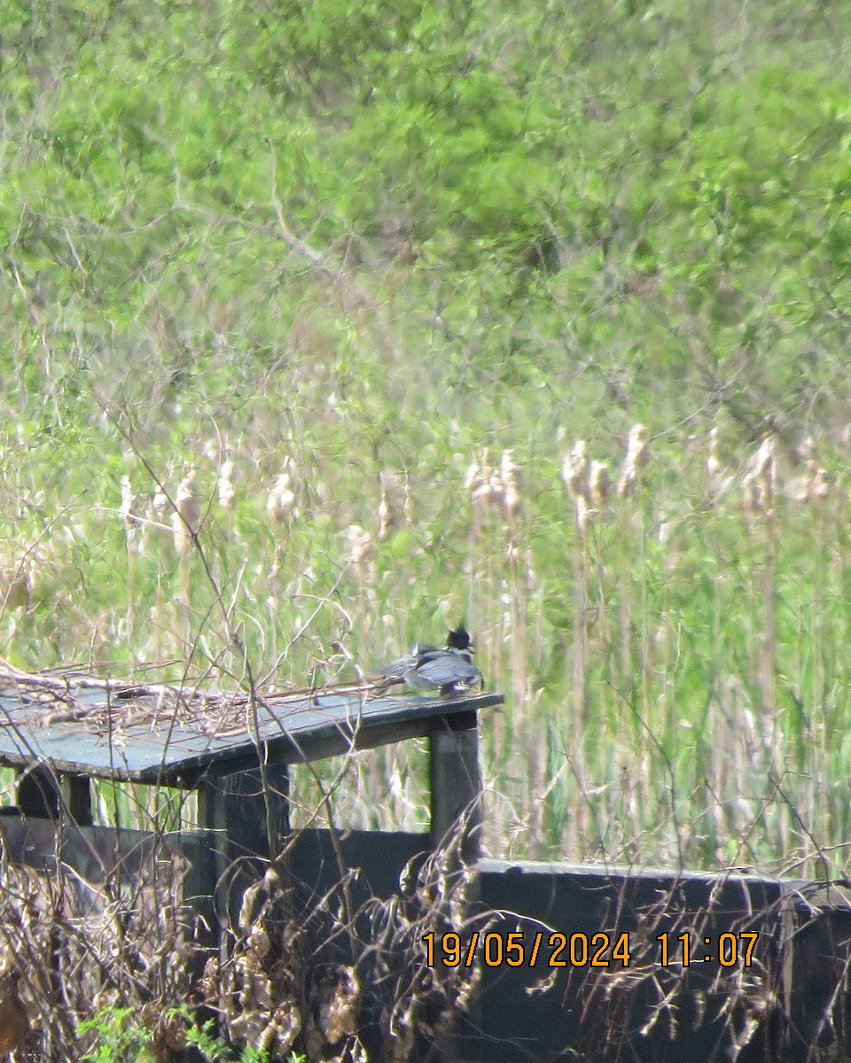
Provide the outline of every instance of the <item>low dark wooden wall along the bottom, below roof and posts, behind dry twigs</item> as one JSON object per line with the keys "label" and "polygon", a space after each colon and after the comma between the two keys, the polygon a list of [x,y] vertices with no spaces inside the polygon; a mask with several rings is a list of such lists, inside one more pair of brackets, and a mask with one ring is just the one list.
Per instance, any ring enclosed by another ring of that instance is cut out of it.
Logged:
{"label": "low dark wooden wall along the bottom, below roof and posts, behind dry twigs", "polygon": [[[49,821],[22,820],[17,813],[0,817],[0,836],[9,859],[49,874],[59,856],[93,882],[99,872],[114,866],[138,880],[156,846],[166,841],[179,846],[189,866],[203,868],[211,837],[195,831],[180,840],[157,841],[145,832],[102,827],[56,833]],[[305,926],[310,923],[313,959],[330,972],[339,963],[357,965],[360,1031],[370,1063],[393,1058],[383,1041],[383,1017],[400,986],[414,984],[411,973],[417,957],[423,961],[418,921],[428,914],[428,904],[444,902],[436,891],[436,899],[423,907],[416,889],[429,844],[428,834],[343,831],[332,839],[327,830],[304,830],[290,854],[294,898],[305,913]],[[207,877],[196,875],[187,882],[203,893]],[[457,1011],[454,1035],[443,1041],[422,1032],[452,999],[440,997],[437,972],[434,1014],[428,1014],[429,1001],[417,1012],[414,1059],[838,1063],[851,1056],[851,904],[842,888],[733,873],[606,873],[568,864],[485,860],[478,864],[470,895],[474,901],[465,913],[463,947],[477,930],[499,935],[493,941],[501,942],[503,949],[508,934],[519,934],[514,941],[522,944],[525,961],[512,967],[503,958],[498,965],[487,965],[480,941],[478,994],[469,1010]],[[382,906],[376,898],[393,902]],[[208,900],[199,897],[197,907],[206,905],[206,911]],[[324,910],[308,919],[306,913],[320,901]],[[335,934],[347,909],[357,913],[351,922],[354,933]],[[683,971],[674,954],[679,934],[686,930],[693,935],[691,963]],[[629,933],[630,965],[624,969],[614,957],[603,957],[607,967],[553,967],[548,942],[554,931],[567,939],[584,934],[589,944],[600,932],[610,933],[613,942]],[[667,968],[660,964],[656,941],[663,933],[670,942]],[[717,955],[722,933],[735,934],[739,949],[740,934],[758,934],[752,967],[721,967]],[[543,944],[531,967],[537,934]],[[704,938],[713,943],[708,948],[702,946]],[[703,961],[704,952],[712,954],[710,962]],[[439,949],[435,959],[439,965]],[[447,1049],[443,1057],[432,1051],[435,1043]]]}

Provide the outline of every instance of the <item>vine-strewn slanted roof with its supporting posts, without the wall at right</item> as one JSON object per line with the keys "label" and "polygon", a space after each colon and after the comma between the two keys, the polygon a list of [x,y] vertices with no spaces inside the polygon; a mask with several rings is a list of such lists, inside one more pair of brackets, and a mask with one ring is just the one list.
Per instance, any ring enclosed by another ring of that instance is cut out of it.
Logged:
{"label": "vine-strewn slanted roof with its supporting posts, without the wall at right", "polygon": [[[427,737],[430,849],[464,815],[467,860],[478,856],[482,781],[478,712],[498,694],[372,696],[357,687],[264,696],[21,676],[0,688],[0,764],[18,770],[17,803],[0,809],[10,858],[48,871],[61,859],[98,883],[133,878],[154,841],[185,861],[184,899],[203,944],[223,944],[245,889],[284,848],[288,770]],[[93,824],[93,780],[195,790],[200,830],[179,834]],[[205,929],[204,929],[205,928]]]}

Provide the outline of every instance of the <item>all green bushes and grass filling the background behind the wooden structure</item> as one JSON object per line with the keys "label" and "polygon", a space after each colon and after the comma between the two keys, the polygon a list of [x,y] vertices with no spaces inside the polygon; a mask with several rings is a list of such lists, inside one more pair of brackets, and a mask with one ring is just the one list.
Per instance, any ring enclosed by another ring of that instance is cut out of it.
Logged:
{"label": "all green bushes and grass filling the background behind the wooden structure", "polygon": [[[771,777],[845,844],[851,14],[822,9],[9,0],[0,655],[302,686],[464,614],[510,697],[495,851],[778,865],[806,846]],[[562,460],[614,472],[636,421],[641,492],[583,540]],[[773,570],[738,488],[769,431]],[[519,517],[465,491],[485,448]],[[190,468],[186,573],[151,502]],[[420,825],[421,759],[363,815]]]}

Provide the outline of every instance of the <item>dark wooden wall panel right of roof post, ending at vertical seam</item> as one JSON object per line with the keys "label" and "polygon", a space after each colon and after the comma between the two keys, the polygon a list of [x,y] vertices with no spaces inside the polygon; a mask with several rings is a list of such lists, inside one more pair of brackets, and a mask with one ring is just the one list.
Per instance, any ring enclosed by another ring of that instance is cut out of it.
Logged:
{"label": "dark wooden wall panel right of roof post, ending at vertical seam", "polygon": [[[600,1063],[736,1058],[735,1032],[754,1016],[753,1011],[748,1014],[749,997],[744,991],[749,973],[744,968],[739,973],[741,996],[731,1000],[730,983],[714,984],[723,975],[717,947],[707,950],[714,959],[703,961],[702,935],[717,946],[721,933],[758,933],[758,962],[752,972],[756,994],[750,999],[766,1000],[758,978],[765,963],[770,978],[771,954],[778,947],[778,906],[792,883],[737,873],[495,860],[481,861],[479,872],[482,911],[499,913],[488,922],[488,932],[498,935],[494,939],[498,946],[504,946],[510,933],[522,934],[525,958],[518,967],[504,962],[488,966],[479,955],[482,1014],[479,1023],[469,1024],[468,1035],[480,1039],[488,1063],[555,1060],[569,1058],[571,1052]],[[684,969],[673,957],[677,935],[698,927],[701,937],[695,939],[690,967]],[[555,966],[555,948],[550,945],[553,931],[564,934],[567,943],[573,934],[584,935],[589,946],[595,934],[608,933],[614,942],[621,932],[628,933],[634,980],[619,977],[624,968],[614,958],[605,958],[607,969],[595,972],[589,963],[572,967],[569,945],[560,957],[568,957],[567,964]],[[651,943],[657,933],[669,935],[673,960],[669,968],[658,963],[641,968],[636,955],[641,931]],[[533,966],[537,941],[540,947]],[[735,968],[731,975],[735,977]],[[675,1022],[648,1024],[649,1016],[658,1011],[660,994],[670,991],[678,979],[682,979],[680,988],[667,1002]],[[546,991],[545,982],[551,982]],[[766,993],[770,992],[769,981]],[[641,1032],[646,1024],[648,1029]],[[617,1031],[614,1039],[613,1029]],[[758,1051],[757,1043],[747,1046],[742,1060],[747,1056],[749,1060],[800,1063],[806,1058],[806,1053],[788,1059]]]}

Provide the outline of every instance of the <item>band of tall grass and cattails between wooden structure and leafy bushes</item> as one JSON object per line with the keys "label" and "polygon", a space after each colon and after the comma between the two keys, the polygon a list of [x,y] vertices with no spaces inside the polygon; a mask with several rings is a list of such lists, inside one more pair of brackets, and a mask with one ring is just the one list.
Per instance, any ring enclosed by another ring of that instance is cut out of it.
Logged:
{"label": "band of tall grass and cattails between wooden structure and leafy bushes", "polygon": [[[181,422],[181,449],[163,448],[104,427],[90,404],[89,426],[63,433],[65,475],[37,434],[14,469],[6,457],[2,561],[23,575],[7,584],[3,656],[102,671],[163,661],[166,676],[188,667],[219,687],[246,681],[250,659],[264,681],[303,686],[353,678],[465,617],[506,695],[483,720],[491,854],[846,866],[848,475],[828,436],[830,476],[813,443],[774,457],[728,429],[721,466],[707,425],[688,441],[657,436],[636,463],[634,433],[620,448],[600,436],[572,449],[565,490],[568,439],[490,459],[465,453],[458,427],[443,463],[437,441],[397,439],[396,465],[354,465],[326,415],[329,445],[296,459],[295,436],[270,445],[277,402],[230,428],[223,492],[224,433],[195,420]],[[27,441],[6,427],[6,455],[12,432]],[[621,463],[617,492],[599,462],[591,489],[585,451]],[[424,826],[420,747],[366,754],[347,773],[340,822]],[[315,787],[297,783],[297,823],[324,814]]]}

